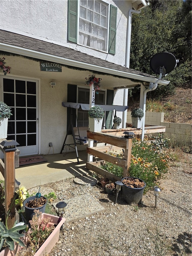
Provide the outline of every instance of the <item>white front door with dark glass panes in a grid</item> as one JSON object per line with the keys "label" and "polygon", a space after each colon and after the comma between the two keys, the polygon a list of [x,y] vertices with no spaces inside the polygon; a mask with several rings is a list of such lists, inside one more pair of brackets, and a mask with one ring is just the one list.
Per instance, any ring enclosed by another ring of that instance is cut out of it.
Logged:
{"label": "white front door with dark glass panes in a grid", "polygon": [[38,154],[38,80],[1,76],[1,101],[13,114],[7,140],[16,140],[20,156]]}

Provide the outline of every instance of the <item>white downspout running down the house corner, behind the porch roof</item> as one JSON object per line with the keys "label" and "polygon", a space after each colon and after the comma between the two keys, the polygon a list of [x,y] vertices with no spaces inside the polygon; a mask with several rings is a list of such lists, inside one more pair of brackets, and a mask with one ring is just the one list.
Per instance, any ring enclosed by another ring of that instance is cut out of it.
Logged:
{"label": "white downspout running down the house corner, behind the porch roof", "polygon": [[[130,64],[130,46],[131,46],[131,21],[132,21],[132,14],[140,14],[140,11],[135,10],[129,10],[128,12],[128,26],[127,26],[127,49],[126,49],[126,58],[125,58],[125,67],[129,68]],[[128,89],[124,89],[124,99],[123,99],[124,106],[127,106],[128,104]],[[126,122],[127,122],[127,110],[123,112],[122,115],[122,128],[126,128]]]}

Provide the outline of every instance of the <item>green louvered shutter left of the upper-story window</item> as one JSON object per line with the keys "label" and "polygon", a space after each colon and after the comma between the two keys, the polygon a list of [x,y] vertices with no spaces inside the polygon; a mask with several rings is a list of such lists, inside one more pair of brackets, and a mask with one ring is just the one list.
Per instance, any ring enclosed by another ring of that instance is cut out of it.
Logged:
{"label": "green louvered shutter left of the upper-story window", "polygon": [[68,1],[68,41],[77,43],[77,0]]}

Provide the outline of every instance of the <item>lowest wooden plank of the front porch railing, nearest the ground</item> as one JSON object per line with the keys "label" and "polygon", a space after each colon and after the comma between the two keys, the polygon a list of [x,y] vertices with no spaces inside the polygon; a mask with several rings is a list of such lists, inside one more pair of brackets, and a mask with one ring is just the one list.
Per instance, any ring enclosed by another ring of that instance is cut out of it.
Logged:
{"label": "lowest wooden plank of the front porch railing, nearest the ground", "polygon": [[[98,164],[97,164],[98,165]],[[122,178],[114,175],[113,173],[109,173],[108,171],[102,169],[101,167],[98,167],[94,163],[86,163],[86,168],[88,170],[94,171],[95,173],[98,173],[99,175],[103,176],[104,178],[108,178],[109,180],[116,182],[117,180],[121,181]]]}

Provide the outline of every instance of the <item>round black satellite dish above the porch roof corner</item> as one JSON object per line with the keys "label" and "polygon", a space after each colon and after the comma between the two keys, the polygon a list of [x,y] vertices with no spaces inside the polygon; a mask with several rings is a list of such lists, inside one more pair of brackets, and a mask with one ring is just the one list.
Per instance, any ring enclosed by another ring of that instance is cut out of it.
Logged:
{"label": "round black satellite dish above the porch roof corner", "polygon": [[[150,60],[150,67],[155,74],[163,75],[170,73],[177,65],[179,60],[172,53],[156,53]],[[161,72],[160,72],[161,68]]]}

